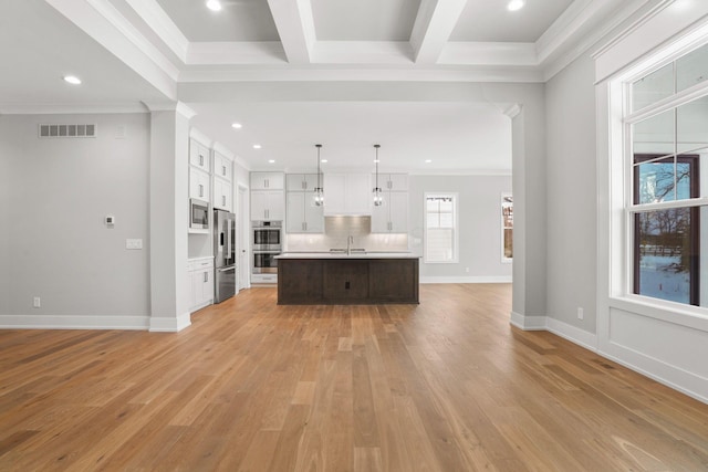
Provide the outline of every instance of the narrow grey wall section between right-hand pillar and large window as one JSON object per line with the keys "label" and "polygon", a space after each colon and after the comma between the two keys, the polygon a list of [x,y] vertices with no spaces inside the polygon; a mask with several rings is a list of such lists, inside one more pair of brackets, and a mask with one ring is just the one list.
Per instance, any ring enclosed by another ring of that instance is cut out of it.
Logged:
{"label": "narrow grey wall section between right-hand pillar and large window", "polygon": [[545,88],[548,316],[592,334],[597,260],[593,77],[594,62],[585,54]]}

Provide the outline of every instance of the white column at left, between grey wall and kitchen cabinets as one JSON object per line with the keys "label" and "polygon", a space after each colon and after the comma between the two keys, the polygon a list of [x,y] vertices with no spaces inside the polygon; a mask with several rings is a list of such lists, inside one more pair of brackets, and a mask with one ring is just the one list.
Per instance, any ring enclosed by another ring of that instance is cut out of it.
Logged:
{"label": "white column at left, between grey wall and kitchen cabinets", "polygon": [[187,274],[189,119],[185,105],[150,108],[150,331],[191,324]]}

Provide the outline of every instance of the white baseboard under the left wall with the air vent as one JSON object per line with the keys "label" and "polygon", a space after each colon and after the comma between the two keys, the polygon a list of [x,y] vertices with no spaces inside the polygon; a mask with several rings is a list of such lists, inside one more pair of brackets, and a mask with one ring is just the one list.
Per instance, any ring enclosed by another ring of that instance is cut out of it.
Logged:
{"label": "white baseboard under the left wall with the air vent", "polygon": [[0,315],[0,329],[146,331],[149,316]]}

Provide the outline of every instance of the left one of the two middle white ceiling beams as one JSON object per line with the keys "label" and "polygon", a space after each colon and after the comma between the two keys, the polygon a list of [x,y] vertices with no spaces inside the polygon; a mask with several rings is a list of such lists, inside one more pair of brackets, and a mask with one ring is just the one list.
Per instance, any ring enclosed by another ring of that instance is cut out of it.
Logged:
{"label": "left one of the two middle white ceiling beams", "polygon": [[310,0],[268,0],[268,6],[288,62],[310,63],[312,45],[315,42]]}

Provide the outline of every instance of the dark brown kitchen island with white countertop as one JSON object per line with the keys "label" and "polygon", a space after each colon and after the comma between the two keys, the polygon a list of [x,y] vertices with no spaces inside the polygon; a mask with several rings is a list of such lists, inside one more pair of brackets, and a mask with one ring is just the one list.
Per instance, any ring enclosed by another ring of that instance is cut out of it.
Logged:
{"label": "dark brown kitchen island with white countertop", "polygon": [[417,304],[418,259],[410,253],[284,253],[279,305]]}

